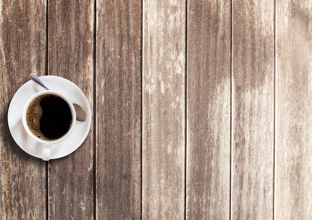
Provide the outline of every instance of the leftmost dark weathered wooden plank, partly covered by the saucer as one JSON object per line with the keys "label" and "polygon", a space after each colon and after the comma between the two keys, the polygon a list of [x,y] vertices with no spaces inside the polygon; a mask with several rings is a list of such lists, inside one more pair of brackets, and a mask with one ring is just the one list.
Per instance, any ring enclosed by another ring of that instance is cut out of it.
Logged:
{"label": "leftmost dark weathered wooden plank, partly covered by the saucer", "polygon": [[[10,135],[9,103],[30,72],[45,73],[45,2],[0,1],[0,216],[45,219],[45,162],[22,151]],[[16,124],[21,126],[21,124]]]}

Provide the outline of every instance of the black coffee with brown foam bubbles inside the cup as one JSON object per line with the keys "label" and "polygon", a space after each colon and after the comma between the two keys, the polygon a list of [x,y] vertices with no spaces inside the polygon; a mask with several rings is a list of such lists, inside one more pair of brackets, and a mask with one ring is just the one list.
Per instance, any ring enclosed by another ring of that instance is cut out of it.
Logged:
{"label": "black coffee with brown foam bubbles inside the cup", "polygon": [[26,122],[31,132],[40,139],[55,140],[69,130],[72,112],[63,98],[53,94],[44,94],[29,104]]}

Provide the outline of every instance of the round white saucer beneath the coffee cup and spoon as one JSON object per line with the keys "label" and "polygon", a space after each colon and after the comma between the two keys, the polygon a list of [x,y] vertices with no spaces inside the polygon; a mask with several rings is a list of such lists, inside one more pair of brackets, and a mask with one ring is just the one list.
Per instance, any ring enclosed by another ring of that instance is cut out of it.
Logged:
{"label": "round white saucer beneath the coffee cup and spoon", "polygon": [[[57,159],[74,152],[86,139],[91,127],[91,108],[87,97],[71,81],[57,76],[42,76],[39,78],[50,90],[64,94],[72,103],[77,103],[87,113],[87,119],[83,122],[76,121],[74,130],[65,140],[51,146],[50,159]],[[26,153],[38,158],[42,158],[42,144],[26,133],[21,117],[26,101],[33,94],[42,90],[44,89],[32,80],[28,81],[14,94],[7,113],[8,127],[14,141]]]}

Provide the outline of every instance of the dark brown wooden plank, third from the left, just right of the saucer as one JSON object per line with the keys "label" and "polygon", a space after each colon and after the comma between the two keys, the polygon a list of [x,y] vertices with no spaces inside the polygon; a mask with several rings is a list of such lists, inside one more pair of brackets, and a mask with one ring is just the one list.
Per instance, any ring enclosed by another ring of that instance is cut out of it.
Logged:
{"label": "dark brown wooden plank, third from the left, just right of the saucer", "polygon": [[97,0],[97,219],[141,218],[141,11]]}

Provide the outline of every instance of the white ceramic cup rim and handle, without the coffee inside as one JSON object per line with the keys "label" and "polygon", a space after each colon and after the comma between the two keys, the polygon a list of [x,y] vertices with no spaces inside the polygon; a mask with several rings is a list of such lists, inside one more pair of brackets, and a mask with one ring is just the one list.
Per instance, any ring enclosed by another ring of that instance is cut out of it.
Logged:
{"label": "white ceramic cup rim and handle, without the coffee inside", "polygon": [[[60,137],[58,137],[56,139],[53,139],[53,140],[45,140],[45,139],[42,139],[42,138],[39,138],[38,136],[36,136],[34,133],[32,133],[32,131],[28,127],[27,120],[26,120],[27,109],[28,109],[29,105],[37,97],[42,96],[42,95],[49,95],[49,94],[62,98],[68,104],[68,106],[69,106],[69,108],[71,110],[71,115],[72,115],[71,124],[70,124],[70,127],[69,127],[68,131],[65,134],[63,134],[62,136],[60,136]],[[26,130],[27,134],[31,138],[33,138],[35,141],[42,143],[42,159],[48,161],[48,160],[50,160],[51,147],[53,147],[52,145],[63,141],[73,131],[73,129],[75,127],[75,123],[76,123],[76,112],[75,112],[73,104],[64,95],[62,95],[62,94],[60,94],[60,93],[58,93],[56,91],[45,90],[45,91],[41,91],[41,92],[38,92],[38,93],[34,94],[33,96],[31,96],[27,100],[27,102],[26,102],[26,104],[24,106],[24,109],[23,109],[23,113],[22,113],[22,123],[23,123],[23,127]]]}

